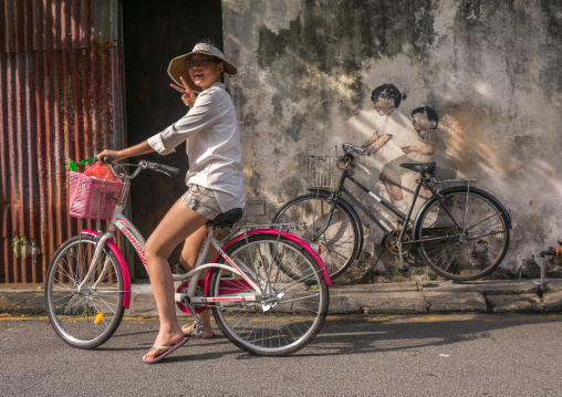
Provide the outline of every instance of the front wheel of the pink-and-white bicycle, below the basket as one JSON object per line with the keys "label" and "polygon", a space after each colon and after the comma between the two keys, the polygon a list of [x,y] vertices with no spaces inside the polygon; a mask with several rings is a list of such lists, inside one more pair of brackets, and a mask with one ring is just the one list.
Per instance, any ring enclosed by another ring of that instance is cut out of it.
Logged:
{"label": "front wheel of the pink-and-white bicycle, below the basket", "polygon": [[[84,280],[97,240],[93,236],[75,236],[54,253],[45,278],[46,313],[56,334],[69,345],[94,348],[106,342],[123,318],[123,275],[117,259],[105,245],[96,264],[94,278]],[[102,275],[103,265],[108,269]]]}

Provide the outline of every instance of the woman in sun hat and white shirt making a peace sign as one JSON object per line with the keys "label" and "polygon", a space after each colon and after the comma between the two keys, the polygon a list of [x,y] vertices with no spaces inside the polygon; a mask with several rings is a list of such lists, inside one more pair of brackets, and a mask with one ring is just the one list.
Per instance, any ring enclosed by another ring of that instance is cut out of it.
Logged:
{"label": "woman in sun hat and white shirt making a peace sign", "polygon": [[[168,74],[181,85],[181,100],[189,112],[147,140],[123,150],[105,149],[97,155],[113,161],[157,152],[166,155],[189,138],[187,192],[170,208],[148,238],[145,258],[160,327],[154,347],[143,357],[157,363],[188,341],[177,317],[174,282],[168,257],[187,239],[197,245],[205,223],[233,208],[243,208],[246,190],[241,163],[240,133],[232,98],[222,83],[223,73],[237,69],[216,45],[199,42],[194,50],[171,60]],[[200,92],[195,95],[194,92]],[[199,232],[198,232],[199,231]],[[194,236],[194,239],[188,239]],[[196,238],[197,237],[197,238]]]}

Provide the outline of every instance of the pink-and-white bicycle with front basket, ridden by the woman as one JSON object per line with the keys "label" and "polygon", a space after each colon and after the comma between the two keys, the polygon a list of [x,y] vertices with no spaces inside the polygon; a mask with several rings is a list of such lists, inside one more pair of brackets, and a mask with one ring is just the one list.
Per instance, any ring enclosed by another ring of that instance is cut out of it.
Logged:
{"label": "pink-and-white bicycle with front basket, ridden by the woman", "polygon": [[[106,342],[129,306],[131,276],[114,242],[117,230],[146,264],[145,240],[122,213],[131,180],[144,169],[168,176],[178,173],[144,160],[131,175],[121,165],[107,166],[122,182],[71,180],[71,213],[111,220],[107,231],[82,230],[59,248],[46,271],[51,324],[64,342],[77,348]],[[222,333],[243,351],[262,356],[292,354],[306,346],[324,323],[330,275],[319,254],[287,231],[298,223],[242,226],[222,241],[214,237],[215,229],[232,227],[241,217],[242,209],[235,209],[208,222],[196,268],[174,275],[181,281],[177,305],[195,317],[194,337],[205,326],[197,314],[210,309]],[[211,263],[204,263],[210,244],[218,254]]]}

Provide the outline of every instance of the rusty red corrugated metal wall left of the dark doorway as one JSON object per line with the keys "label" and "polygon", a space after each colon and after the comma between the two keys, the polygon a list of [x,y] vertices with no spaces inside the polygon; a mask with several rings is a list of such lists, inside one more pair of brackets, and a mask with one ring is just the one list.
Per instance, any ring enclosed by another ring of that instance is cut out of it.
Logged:
{"label": "rusty red corrugated metal wall left of the dark doorway", "polygon": [[65,160],[124,145],[121,21],[118,0],[0,2],[0,283],[42,282],[76,233]]}

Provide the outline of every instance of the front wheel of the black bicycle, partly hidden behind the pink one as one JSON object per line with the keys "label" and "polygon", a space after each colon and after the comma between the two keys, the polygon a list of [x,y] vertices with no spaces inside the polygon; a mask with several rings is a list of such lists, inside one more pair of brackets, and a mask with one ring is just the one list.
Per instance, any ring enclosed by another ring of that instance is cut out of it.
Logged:
{"label": "front wheel of the black bicycle, partly hidden behind the pink one", "polygon": [[358,257],[363,245],[363,227],[355,211],[342,198],[337,199],[335,211],[327,229],[313,239],[323,227],[331,208],[330,195],[313,192],[298,196],[285,202],[273,217],[273,223],[304,222],[291,233],[309,244],[320,244],[321,257],[332,281],[342,275]]}

